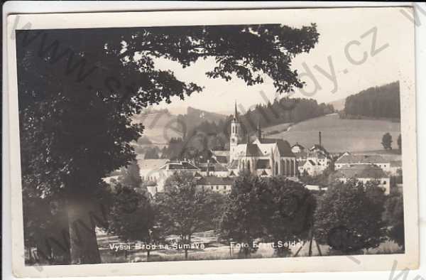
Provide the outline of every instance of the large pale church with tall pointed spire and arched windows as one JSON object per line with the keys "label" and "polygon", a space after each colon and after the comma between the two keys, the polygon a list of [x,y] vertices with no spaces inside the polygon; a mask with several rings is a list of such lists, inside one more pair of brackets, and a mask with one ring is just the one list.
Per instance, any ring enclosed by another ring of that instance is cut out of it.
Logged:
{"label": "large pale church with tall pointed spire and arched windows", "polygon": [[248,137],[244,141],[236,105],[229,141],[230,172],[236,175],[250,172],[258,176],[297,176],[296,157],[288,141],[263,138],[260,123],[256,139]]}

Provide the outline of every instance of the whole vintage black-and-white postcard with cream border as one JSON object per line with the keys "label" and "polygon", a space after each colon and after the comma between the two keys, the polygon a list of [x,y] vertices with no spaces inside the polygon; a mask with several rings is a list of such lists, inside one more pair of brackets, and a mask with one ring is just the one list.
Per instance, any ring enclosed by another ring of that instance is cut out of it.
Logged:
{"label": "whole vintage black-and-white postcard with cream border", "polygon": [[14,274],[415,269],[412,14],[9,16]]}

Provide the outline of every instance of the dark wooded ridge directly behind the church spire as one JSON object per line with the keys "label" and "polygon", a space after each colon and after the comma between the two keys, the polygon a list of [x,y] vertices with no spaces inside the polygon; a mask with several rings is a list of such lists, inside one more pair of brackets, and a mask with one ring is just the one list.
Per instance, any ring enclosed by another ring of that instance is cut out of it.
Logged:
{"label": "dark wooded ridge directly behind the church spire", "polygon": [[[244,131],[242,140],[246,141],[248,134],[254,134],[258,122],[261,122],[261,126],[264,128],[275,124],[301,122],[332,112],[334,112],[334,108],[331,104],[318,104],[314,99],[305,98],[286,97],[266,105],[258,104],[246,114],[239,115]],[[208,158],[210,156],[209,150],[229,149],[232,119],[232,115],[224,119],[216,118],[216,116],[214,119],[210,119],[210,116],[205,117],[204,120],[199,118],[196,126],[187,127],[183,139],[170,139],[168,146],[161,151],[161,157],[200,160],[200,157]],[[157,158],[151,154],[148,154],[148,157]]]}

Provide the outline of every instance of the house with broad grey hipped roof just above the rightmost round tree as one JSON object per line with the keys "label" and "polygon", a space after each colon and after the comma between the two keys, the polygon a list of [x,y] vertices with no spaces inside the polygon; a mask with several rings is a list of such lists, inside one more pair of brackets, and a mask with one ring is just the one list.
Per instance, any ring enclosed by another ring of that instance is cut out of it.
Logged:
{"label": "house with broad grey hipped roof just above the rightmost round tree", "polygon": [[339,168],[334,173],[334,178],[346,183],[351,178],[367,183],[371,181],[378,182],[378,186],[385,189],[385,194],[391,192],[391,178],[380,168],[374,164],[357,163],[349,164]]}

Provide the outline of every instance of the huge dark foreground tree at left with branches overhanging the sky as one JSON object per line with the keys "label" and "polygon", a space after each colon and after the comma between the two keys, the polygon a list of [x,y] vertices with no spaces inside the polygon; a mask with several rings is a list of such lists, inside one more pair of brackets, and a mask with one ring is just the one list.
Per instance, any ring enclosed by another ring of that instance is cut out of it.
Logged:
{"label": "huge dark foreground tree at left with branches overhanging the sky", "polygon": [[184,68],[212,58],[207,77],[255,85],[268,76],[277,92],[290,92],[303,86],[291,61],[318,36],[315,24],[16,31],[23,176],[45,195],[65,193],[71,262],[100,262],[88,213],[99,208],[102,178],[135,157],[129,143],[143,126],[131,116],[202,90],[155,68],[157,58]]}

